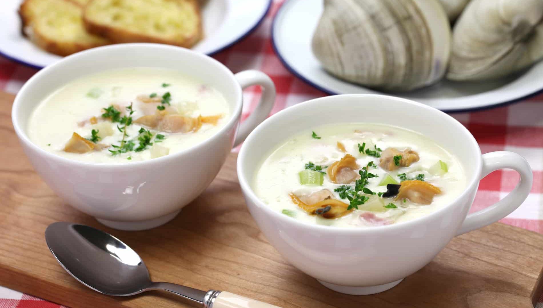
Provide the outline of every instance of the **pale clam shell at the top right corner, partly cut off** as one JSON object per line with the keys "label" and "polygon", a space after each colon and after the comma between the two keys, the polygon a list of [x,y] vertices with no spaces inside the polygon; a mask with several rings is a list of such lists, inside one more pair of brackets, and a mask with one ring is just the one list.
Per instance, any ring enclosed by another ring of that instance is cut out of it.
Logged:
{"label": "pale clam shell at the top right corner, partly cut off", "polygon": [[454,25],[447,78],[487,80],[543,57],[543,0],[472,0]]}

